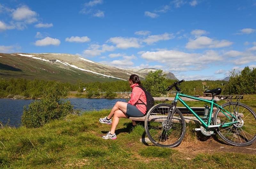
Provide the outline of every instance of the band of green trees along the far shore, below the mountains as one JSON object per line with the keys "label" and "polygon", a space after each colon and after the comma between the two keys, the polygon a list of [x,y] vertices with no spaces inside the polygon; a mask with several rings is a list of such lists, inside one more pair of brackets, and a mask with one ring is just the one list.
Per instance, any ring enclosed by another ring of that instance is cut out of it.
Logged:
{"label": "band of green trees along the far shore, below the mountains", "polygon": [[[142,86],[146,88],[154,97],[166,94],[165,89],[175,80],[166,79],[162,76],[162,70],[150,72],[146,80],[142,81]],[[255,94],[256,93],[256,69],[245,67],[241,72],[233,70],[229,82],[221,80],[192,80],[185,81],[180,85],[183,93],[189,95],[202,95],[206,90],[202,82],[206,82],[208,89],[222,88],[222,94]],[[29,80],[24,78],[0,78],[0,97],[8,95],[21,95],[28,98],[39,98],[45,88],[51,87],[54,81]],[[222,86],[225,84],[224,86]],[[114,82],[91,82],[83,83],[81,80],[75,83],[59,83],[61,87],[66,87],[69,91],[83,92],[86,87],[86,97],[98,97],[100,92],[105,92],[107,98],[115,97],[113,92],[130,92],[132,89],[128,81]]]}

